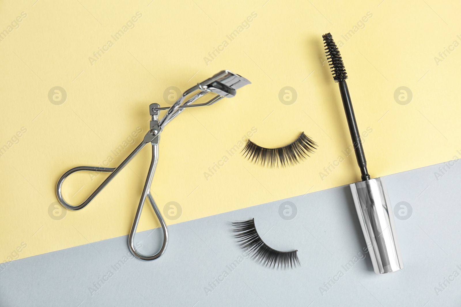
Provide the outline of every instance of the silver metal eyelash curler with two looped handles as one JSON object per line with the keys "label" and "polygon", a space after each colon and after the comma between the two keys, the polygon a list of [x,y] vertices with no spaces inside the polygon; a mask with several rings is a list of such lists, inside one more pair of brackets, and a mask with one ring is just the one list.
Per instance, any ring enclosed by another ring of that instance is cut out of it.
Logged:
{"label": "silver metal eyelash curler with two looped handles", "polygon": [[[146,136],[142,140],[141,144],[139,144],[135,148],[135,150],[133,150],[130,153],[130,155],[127,156],[125,160],[122,163],[120,163],[120,165],[118,165],[117,168],[78,166],[76,168],[71,168],[70,170],[65,172],[61,176],[61,178],[59,178],[58,184],[56,186],[56,195],[58,196],[59,203],[61,203],[65,208],[70,210],[80,210],[85,208],[93,200],[93,198],[95,198],[96,195],[98,195],[99,192],[102,191],[102,189],[104,189],[106,185],[131,161],[131,159],[133,159],[134,156],[136,156],[137,153],[141,151],[144,145],[151,143],[152,159],[149,165],[147,179],[144,184],[144,188],[142,189],[141,200],[139,201],[138,209],[136,210],[135,220],[133,221],[133,226],[131,227],[130,236],[128,238],[128,247],[130,248],[131,253],[141,260],[155,260],[159,258],[165,252],[166,246],[168,244],[168,228],[165,224],[165,220],[163,220],[163,217],[160,214],[160,210],[157,208],[157,204],[155,203],[154,198],[150,194],[150,185],[152,183],[152,179],[154,178],[155,167],[157,166],[157,161],[159,159],[160,133],[165,128],[165,125],[169,123],[173,118],[178,116],[185,108],[212,105],[223,98],[232,98],[236,95],[237,89],[247,84],[251,84],[251,82],[243,78],[242,76],[234,74],[229,70],[222,70],[216,75],[213,75],[211,78],[201,83],[198,83],[194,87],[189,88],[171,107],[160,108],[159,104],[150,104],[149,113],[152,116],[152,120],[150,121],[150,129],[148,133],[146,133]],[[186,100],[183,103],[186,97],[192,95],[195,92],[198,93],[196,93],[192,98]],[[209,93],[214,93],[216,95],[205,103],[193,104],[196,100],[204,97]],[[159,121],[159,114],[161,110],[168,111]],[[83,203],[77,206],[72,206],[64,200],[61,189],[64,180],[70,174],[78,171],[97,171],[108,172],[111,174],[96,188],[96,190]],[[154,209],[154,212],[157,215],[157,218],[159,219],[163,230],[163,244],[160,248],[160,251],[155,255],[142,255],[135,248],[134,239],[136,235],[136,229],[138,227],[139,218],[141,217],[142,207],[144,206],[146,197],[149,199],[149,202],[152,205],[152,208]]]}

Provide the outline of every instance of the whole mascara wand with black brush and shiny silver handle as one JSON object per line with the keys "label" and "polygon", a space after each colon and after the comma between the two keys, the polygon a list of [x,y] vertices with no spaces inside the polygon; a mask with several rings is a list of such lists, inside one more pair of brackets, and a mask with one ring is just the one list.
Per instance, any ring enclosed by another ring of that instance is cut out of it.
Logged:
{"label": "whole mascara wand with black brush and shiny silver handle", "polygon": [[403,268],[402,255],[397,239],[396,226],[392,215],[386,185],[382,178],[371,179],[366,168],[365,153],[355,121],[354,109],[347,87],[347,73],[343,58],[330,33],[322,35],[325,53],[333,79],[339,83],[349,132],[354,146],[355,156],[361,171],[361,182],[350,184],[355,209],[360,220],[366,249],[370,253],[373,269],[377,274],[396,272]]}

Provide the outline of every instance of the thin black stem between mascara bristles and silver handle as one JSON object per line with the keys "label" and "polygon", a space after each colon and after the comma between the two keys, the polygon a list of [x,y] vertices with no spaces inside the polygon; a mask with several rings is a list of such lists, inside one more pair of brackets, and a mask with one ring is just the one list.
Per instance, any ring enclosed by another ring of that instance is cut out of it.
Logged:
{"label": "thin black stem between mascara bristles and silver handle", "polygon": [[350,137],[352,139],[352,144],[354,145],[355,156],[357,157],[357,163],[360,167],[362,181],[370,180],[371,177],[366,169],[365,153],[363,152],[359,128],[357,127],[357,122],[355,121],[354,109],[352,108],[352,101],[350,99],[346,81],[339,81],[339,91],[341,92],[341,98],[343,99]]}

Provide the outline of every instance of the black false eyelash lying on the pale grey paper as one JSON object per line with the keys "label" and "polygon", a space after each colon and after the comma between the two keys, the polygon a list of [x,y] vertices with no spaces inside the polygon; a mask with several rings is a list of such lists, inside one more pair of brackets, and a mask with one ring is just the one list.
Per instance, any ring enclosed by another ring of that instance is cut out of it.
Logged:
{"label": "black false eyelash lying on the pale grey paper", "polygon": [[251,259],[262,266],[273,269],[301,266],[297,249],[281,252],[267,246],[256,231],[254,219],[233,222],[232,225],[234,226],[232,231],[235,232],[240,247]]}

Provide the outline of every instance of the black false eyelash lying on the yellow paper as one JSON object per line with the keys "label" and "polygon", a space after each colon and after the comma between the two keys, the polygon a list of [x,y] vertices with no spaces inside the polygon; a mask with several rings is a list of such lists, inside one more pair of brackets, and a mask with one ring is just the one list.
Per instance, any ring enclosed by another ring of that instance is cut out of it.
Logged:
{"label": "black false eyelash lying on the yellow paper", "polygon": [[242,149],[242,155],[261,166],[286,167],[305,160],[309,156],[308,153],[313,153],[314,149],[317,149],[316,146],[317,144],[302,132],[294,142],[278,148],[261,147],[248,139]]}

